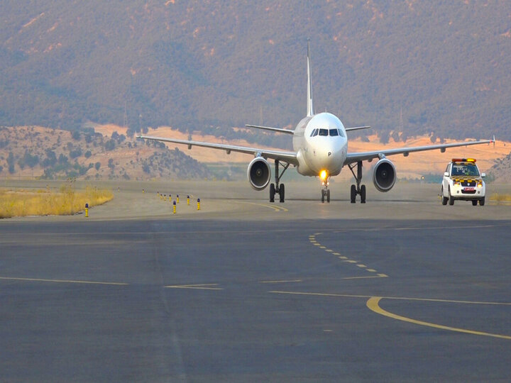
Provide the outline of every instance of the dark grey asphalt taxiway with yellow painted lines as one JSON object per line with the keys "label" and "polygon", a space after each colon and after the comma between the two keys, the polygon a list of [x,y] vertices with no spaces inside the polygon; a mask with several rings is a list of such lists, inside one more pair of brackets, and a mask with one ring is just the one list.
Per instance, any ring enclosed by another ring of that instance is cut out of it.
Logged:
{"label": "dark grey asphalt taxiway with yellow painted lines", "polygon": [[509,377],[511,206],[182,183],[173,214],[140,186],[89,219],[0,221],[2,380]]}

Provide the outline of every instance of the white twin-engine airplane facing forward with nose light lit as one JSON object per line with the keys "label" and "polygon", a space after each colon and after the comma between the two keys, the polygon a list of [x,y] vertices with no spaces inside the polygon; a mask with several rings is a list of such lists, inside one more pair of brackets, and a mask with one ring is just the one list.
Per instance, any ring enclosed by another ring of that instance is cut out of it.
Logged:
{"label": "white twin-engine airplane facing forward with nose light lit", "polygon": [[[378,191],[385,192],[392,189],[396,180],[395,166],[388,160],[387,156],[402,154],[407,157],[411,152],[435,149],[445,152],[446,148],[495,142],[494,136],[493,140],[476,140],[464,143],[385,149],[372,152],[348,152],[348,136],[346,133],[358,129],[370,128],[370,126],[345,127],[341,120],[332,113],[314,113],[311,72],[310,40],[308,40],[307,116],[297,123],[294,131],[270,126],[246,125],[248,128],[258,128],[275,133],[292,135],[292,151],[249,148],[245,146],[206,143],[194,140],[178,140],[175,138],[153,137],[139,134],[136,134],[136,137],[145,140],[183,144],[187,145],[188,149],[191,149],[192,146],[199,146],[225,150],[227,154],[231,152],[241,152],[253,155],[253,160],[248,164],[248,182],[255,190],[263,190],[268,187],[269,184],[270,202],[275,201],[275,194],[279,195],[280,202],[285,201],[285,185],[280,182],[280,179],[282,179],[282,175],[290,165],[296,167],[297,172],[304,176],[319,176],[322,182],[321,200],[323,203],[325,199],[327,202],[330,202],[330,189],[328,188],[329,179],[330,177],[338,175],[342,168],[347,166],[348,169],[351,170],[356,183],[351,184],[350,199],[352,204],[356,203],[356,196],[360,196],[362,204],[366,203],[366,185],[361,184],[363,161],[372,162],[375,159],[378,160],[374,166],[373,184]],[[275,183],[270,183],[271,169],[268,160],[274,160],[275,162]],[[282,170],[280,170],[281,165]],[[355,168],[356,172],[354,171]]]}

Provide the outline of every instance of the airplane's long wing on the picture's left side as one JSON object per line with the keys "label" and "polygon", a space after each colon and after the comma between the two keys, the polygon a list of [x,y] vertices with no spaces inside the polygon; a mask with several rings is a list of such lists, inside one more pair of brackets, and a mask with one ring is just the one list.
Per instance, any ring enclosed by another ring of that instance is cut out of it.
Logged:
{"label": "airplane's long wing on the picture's left side", "polygon": [[177,138],[153,137],[150,135],[136,135],[136,138],[188,145],[188,149],[191,149],[192,146],[202,146],[202,148],[225,150],[227,154],[230,154],[231,152],[239,152],[253,155],[255,157],[260,156],[264,158],[270,158],[272,160],[280,160],[282,162],[290,163],[291,165],[298,165],[297,154],[295,152],[286,152],[284,150],[248,148],[246,146],[226,145],[221,143],[204,143],[201,141],[178,140]]}

